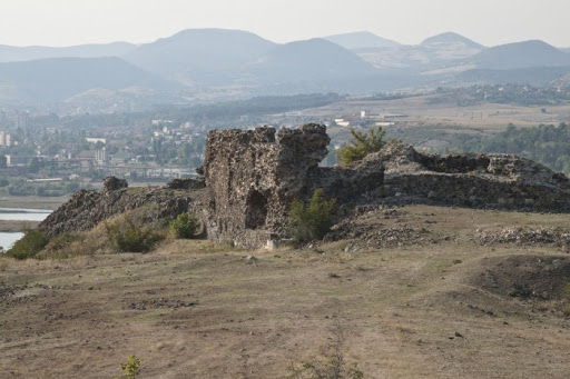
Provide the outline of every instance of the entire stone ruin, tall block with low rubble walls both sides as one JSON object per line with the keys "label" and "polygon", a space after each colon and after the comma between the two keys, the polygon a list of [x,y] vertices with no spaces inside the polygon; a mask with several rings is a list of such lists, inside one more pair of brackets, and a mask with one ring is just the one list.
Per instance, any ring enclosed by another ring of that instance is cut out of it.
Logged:
{"label": "entire stone ruin, tall block with low rubble walls both sides", "polygon": [[428,203],[481,209],[570,212],[570,181],[511,154],[424,154],[394,144],[343,167],[318,167],[327,154],[324,126],[208,133],[203,180],[128,189],[106,179],[102,192],[80,191],[39,228],[49,235],[89,230],[145,205],[157,218],[196,213],[208,238],[253,249],[286,237],[293,199],[322,188],[346,208],[363,203]]}

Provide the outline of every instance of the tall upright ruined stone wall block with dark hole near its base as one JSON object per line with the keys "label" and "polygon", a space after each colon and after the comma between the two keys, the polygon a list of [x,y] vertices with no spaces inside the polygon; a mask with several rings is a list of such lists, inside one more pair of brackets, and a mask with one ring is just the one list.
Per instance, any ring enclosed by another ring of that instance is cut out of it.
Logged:
{"label": "tall upright ruined stone wall block with dark hole near its base", "polygon": [[258,247],[283,233],[287,207],[302,196],[311,168],[326,156],[325,127],[213,130],[204,176],[210,197],[208,236]]}

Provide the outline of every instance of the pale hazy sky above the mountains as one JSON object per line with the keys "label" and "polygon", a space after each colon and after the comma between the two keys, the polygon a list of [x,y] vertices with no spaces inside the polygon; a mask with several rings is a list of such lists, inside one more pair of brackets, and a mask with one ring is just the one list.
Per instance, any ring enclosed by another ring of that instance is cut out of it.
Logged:
{"label": "pale hazy sky above the mountains", "polygon": [[368,30],[402,43],[455,31],[495,46],[570,47],[570,0],[0,0],[0,44],[151,42],[190,28],[275,42]]}

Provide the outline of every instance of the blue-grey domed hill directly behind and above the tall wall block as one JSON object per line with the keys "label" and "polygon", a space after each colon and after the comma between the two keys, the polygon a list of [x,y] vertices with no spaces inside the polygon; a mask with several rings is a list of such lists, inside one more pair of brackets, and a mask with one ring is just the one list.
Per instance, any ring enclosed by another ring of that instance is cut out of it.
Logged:
{"label": "blue-grey domed hill directly behind and above the tall wall block", "polygon": [[374,73],[354,52],[322,38],[277,46],[247,69],[264,83],[320,81]]}

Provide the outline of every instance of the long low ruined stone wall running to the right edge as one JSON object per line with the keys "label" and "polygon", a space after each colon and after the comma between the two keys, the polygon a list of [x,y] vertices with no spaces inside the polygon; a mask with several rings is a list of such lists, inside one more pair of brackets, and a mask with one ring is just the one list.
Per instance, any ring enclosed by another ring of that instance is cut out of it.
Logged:
{"label": "long low ruined stone wall running to the right edge", "polygon": [[570,180],[512,154],[422,154],[411,146],[380,153],[389,197],[483,209],[570,211]]}

